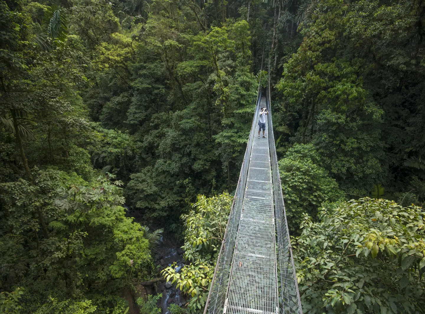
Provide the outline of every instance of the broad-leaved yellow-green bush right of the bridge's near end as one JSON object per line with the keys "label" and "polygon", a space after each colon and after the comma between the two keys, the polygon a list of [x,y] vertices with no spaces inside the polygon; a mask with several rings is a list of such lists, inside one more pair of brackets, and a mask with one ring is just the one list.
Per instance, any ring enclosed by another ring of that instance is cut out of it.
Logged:
{"label": "broad-leaved yellow-green bush right of the bridge's near end", "polygon": [[306,215],[294,252],[304,312],[423,313],[424,215],[369,198]]}

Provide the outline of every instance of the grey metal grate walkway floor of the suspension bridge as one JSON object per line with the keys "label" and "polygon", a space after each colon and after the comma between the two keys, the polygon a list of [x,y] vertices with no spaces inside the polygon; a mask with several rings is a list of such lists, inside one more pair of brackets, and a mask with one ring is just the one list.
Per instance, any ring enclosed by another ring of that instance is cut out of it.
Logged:
{"label": "grey metal grate walkway floor of the suspension bridge", "polygon": [[[266,107],[265,97],[261,106]],[[279,313],[275,212],[269,140],[255,138],[223,314]],[[266,133],[267,132],[266,121]],[[254,135],[252,135],[254,136]]]}

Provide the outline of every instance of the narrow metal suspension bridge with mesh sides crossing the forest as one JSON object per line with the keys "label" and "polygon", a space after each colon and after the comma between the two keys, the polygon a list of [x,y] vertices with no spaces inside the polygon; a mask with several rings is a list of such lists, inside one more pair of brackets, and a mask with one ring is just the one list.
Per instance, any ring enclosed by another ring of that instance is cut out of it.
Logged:
{"label": "narrow metal suspension bridge with mesh sides crossing the forest", "polygon": [[[270,90],[270,88],[268,89]],[[269,114],[258,138],[261,107]],[[273,135],[270,96],[257,106],[204,314],[302,314]]]}

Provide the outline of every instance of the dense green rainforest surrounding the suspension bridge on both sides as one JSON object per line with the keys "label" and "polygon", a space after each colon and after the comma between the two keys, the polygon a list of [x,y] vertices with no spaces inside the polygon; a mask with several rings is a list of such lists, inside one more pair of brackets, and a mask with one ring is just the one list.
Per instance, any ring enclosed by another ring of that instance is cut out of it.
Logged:
{"label": "dense green rainforest surrounding the suspension bridge on both sides", "polygon": [[163,229],[202,311],[269,74],[304,312],[424,313],[424,39],[416,0],[1,0],[0,311],[124,314]]}

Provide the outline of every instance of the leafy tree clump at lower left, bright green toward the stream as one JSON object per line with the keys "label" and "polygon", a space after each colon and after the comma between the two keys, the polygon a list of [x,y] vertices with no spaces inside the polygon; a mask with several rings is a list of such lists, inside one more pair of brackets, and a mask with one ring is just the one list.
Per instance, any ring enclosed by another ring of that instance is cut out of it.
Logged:
{"label": "leafy tree clump at lower left, bright green toward the stream", "polygon": [[[84,299],[90,289],[89,295],[100,297],[125,284],[116,278],[148,278],[149,241],[119,206],[120,181],[100,177],[90,184],[54,170],[40,170],[33,178],[34,186],[22,179],[1,183],[9,215],[0,242],[3,289],[25,286],[23,298],[34,312],[46,302],[43,291],[51,299],[38,309],[44,313],[71,306],[56,301],[58,292]],[[39,208],[47,229],[43,238]]]}

